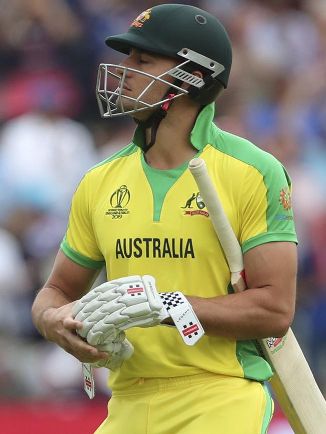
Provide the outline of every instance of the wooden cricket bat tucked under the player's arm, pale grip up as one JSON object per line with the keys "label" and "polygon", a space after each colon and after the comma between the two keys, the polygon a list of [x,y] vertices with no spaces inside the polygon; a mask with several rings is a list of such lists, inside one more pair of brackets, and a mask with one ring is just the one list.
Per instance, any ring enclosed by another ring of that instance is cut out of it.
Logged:
{"label": "wooden cricket bat tucked under the player's arm, pale grip up", "polygon": [[[224,250],[233,289],[235,292],[243,291],[246,289],[246,282],[242,250],[209,176],[206,163],[202,158],[194,158],[189,162],[189,169]],[[274,372],[270,380],[271,387],[295,434],[325,434],[326,401],[292,330],[289,329],[283,338],[259,339],[258,349]]]}

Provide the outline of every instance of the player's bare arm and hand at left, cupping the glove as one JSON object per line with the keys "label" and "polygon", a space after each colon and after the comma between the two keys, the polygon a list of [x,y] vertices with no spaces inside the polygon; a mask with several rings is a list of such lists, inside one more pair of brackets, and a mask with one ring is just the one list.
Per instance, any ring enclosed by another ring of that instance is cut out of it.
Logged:
{"label": "player's bare arm and hand at left, cupping the glove", "polygon": [[98,271],[82,267],[60,249],[51,275],[37,294],[32,307],[36,328],[49,341],[56,342],[78,360],[88,363],[105,359],[107,352],[98,351],[77,336],[82,323],[72,317],[75,300],[91,287]]}

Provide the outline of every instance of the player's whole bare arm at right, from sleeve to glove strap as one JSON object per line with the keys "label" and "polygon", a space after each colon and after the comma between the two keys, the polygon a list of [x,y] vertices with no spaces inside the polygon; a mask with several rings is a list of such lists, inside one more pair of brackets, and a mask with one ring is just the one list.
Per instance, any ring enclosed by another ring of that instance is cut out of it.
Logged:
{"label": "player's whole bare arm at right, from sleeve to glove strap", "polygon": [[283,336],[294,315],[296,245],[259,245],[245,253],[244,263],[248,290],[206,299],[187,297],[205,333],[231,339]]}

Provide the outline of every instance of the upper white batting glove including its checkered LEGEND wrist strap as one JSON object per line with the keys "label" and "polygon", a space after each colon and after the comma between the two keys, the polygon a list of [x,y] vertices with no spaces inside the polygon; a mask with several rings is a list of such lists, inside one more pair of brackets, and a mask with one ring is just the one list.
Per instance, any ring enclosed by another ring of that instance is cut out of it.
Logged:
{"label": "upper white batting glove including its checkered LEGEND wrist strap", "polygon": [[119,336],[130,327],[152,327],[168,317],[187,345],[194,345],[204,334],[186,297],[181,292],[158,293],[155,279],[147,275],[124,277],[94,288],[76,303],[73,314],[83,323],[87,341],[94,344],[104,336]]}

